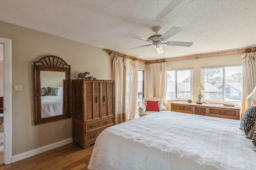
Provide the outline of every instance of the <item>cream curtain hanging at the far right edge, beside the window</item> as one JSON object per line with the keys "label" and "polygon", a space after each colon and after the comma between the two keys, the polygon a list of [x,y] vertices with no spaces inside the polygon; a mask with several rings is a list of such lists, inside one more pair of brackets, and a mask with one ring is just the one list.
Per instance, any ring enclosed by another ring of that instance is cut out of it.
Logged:
{"label": "cream curtain hanging at the far right edge, beside the window", "polygon": [[246,97],[252,93],[256,86],[256,62],[255,53],[244,53],[241,55],[243,65],[243,92],[242,92],[242,109],[241,113],[248,109],[248,107],[255,105],[255,101],[252,99],[246,99]]}

